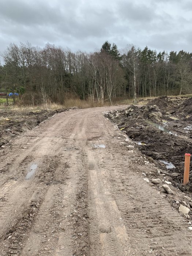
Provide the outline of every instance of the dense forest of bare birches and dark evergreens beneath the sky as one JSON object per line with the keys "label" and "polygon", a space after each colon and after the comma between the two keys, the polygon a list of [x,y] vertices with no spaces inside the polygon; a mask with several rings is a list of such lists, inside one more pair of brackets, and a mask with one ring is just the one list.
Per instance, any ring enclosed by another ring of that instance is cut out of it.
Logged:
{"label": "dense forest of bare birches and dark evergreens beneath the sky", "polygon": [[11,44],[1,54],[0,91],[18,92],[25,102],[45,97],[64,103],[78,97],[103,103],[116,97],[134,98],[192,93],[192,53],[136,49],[120,54],[106,41],[94,53],[72,52],[47,44]]}

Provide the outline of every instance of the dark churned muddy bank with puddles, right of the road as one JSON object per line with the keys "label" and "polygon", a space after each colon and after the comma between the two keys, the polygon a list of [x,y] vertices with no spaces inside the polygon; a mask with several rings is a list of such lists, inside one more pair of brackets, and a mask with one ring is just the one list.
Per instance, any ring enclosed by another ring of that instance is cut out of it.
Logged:
{"label": "dark churned muddy bank with puddles, right of the road", "polygon": [[175,187],[191,196],[192,176],[185,188],[182,179],[184,154],[192,153],[192,98],[160,97],[146,106],[130,106],[107,116],[135,141],[150,162],[164,171]]}

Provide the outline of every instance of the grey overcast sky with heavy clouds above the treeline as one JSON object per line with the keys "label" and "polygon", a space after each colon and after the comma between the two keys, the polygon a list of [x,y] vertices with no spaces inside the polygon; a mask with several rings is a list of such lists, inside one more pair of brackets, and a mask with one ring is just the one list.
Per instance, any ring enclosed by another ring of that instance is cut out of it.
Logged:
{"label": "grey overcast sky with heavy clouds above the treeline", "polygon": [[192,1],[0,0],[0,52],[26,41],[93,52],[106,40],[192,52]]}

